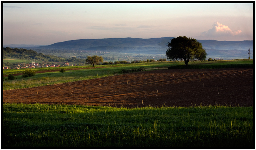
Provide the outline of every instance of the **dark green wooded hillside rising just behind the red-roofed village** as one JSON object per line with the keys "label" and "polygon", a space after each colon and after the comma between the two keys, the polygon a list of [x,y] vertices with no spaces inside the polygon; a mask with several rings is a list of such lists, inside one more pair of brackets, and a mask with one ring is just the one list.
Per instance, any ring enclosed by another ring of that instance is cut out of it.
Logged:
{"label": "dark green wooded hillside rising just behind the red-roofed village", "polygon": [[31,49],[17,49],[17,48],[3,48],[3,57],[18,58],[18,59],[27,59],[37,61],[46,61],[46,62],[76,62],[84,63],[85,59],[77,59],[76,57],[71,58],[61,58],[58,56],[44,55],[42,53],[37,54],[36,51]]}

